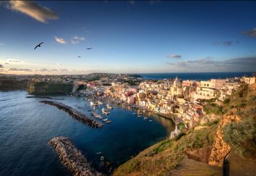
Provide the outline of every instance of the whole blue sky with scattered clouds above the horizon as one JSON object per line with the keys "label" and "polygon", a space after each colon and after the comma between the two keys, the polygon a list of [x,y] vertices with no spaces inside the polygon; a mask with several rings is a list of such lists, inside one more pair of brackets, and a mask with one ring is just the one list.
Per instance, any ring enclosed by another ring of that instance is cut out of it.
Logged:
{"label": "whole blue sky with scattered clouds above the horizon", "polygon": [[255,19],[256,1],[0,1],[0,73],[254,72]]}

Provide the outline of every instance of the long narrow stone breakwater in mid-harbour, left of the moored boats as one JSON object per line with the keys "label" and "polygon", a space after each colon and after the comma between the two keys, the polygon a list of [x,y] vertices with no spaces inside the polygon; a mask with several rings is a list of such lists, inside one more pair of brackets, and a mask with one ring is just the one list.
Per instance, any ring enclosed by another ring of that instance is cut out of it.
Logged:
{"label": "long narrow stone breakwater in mid-harbour, left of the moored boats", "polygon": [[79,122],[82,122],[85,125],[88,125],[93,128],[100,128],[103,127],[103,124],[101,122],[98,122],[95,119],[92,119],[91,117],[88,117],[85,114],[82,114],[81,112],[77,111],[73,107],[67,106],[66,104],[54,102],[54,101],[40,101],[40,103],[49,104],[51,106],[56,106],[58,109],[62,109],[63,111],[69,113],[71,117],[78,120]]}

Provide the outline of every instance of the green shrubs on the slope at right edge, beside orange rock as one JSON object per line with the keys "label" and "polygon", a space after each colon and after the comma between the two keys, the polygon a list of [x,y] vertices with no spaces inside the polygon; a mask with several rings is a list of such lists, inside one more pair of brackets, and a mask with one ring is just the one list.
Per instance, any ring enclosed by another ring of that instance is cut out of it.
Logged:
{"label": "green shrubs on the slope at right edge, beside orange rock", "polygon": [[[228,108],[228,104],[227,108]],[[247,85],[241,86],[229,99],[229,109],[237,108],[235,115],[241,122],[232,122],[223,129],[224,140],[241,157],[256,154],[256,96]]]}

